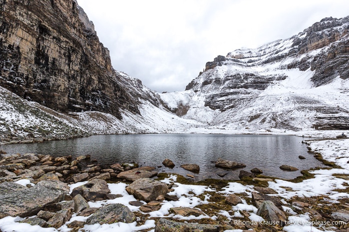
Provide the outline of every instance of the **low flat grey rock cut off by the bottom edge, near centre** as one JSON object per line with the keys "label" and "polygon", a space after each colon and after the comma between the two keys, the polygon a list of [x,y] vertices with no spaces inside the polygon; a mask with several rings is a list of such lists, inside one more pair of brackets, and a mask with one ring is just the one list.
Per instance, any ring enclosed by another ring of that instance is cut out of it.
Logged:
{"label": "low flat grey rock cut off by the bottom edge, near centre", "polygon": [[222,226],[196,223],[177,223],[161,218],[155,227],[155,232],[219,232]]}

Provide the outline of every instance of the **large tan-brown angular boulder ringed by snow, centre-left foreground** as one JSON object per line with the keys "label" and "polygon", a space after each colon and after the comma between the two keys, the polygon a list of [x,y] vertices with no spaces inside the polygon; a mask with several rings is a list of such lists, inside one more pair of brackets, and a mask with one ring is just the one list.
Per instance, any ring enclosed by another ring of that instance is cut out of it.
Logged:
{"label": "large tan-brown angular boulder ringed by snow, centre-left foreground", "polygon": [[154,201],[158,196],[169,192],[165,183],[149,178],[135,180],[126,187],[126,191],[138,200],[145,202]]}

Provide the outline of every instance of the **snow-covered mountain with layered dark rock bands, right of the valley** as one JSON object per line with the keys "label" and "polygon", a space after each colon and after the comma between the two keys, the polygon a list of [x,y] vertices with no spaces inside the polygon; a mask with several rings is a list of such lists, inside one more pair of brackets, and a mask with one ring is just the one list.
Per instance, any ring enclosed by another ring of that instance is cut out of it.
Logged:
{"label": "snow-covered mountain with layered dark rock bands, right of the valley", "polygon": [[218,56],[186,91],[161,99],[183,118],[222,128],[349,129],[348,31],[349,17],[325,18],[289,39]]}

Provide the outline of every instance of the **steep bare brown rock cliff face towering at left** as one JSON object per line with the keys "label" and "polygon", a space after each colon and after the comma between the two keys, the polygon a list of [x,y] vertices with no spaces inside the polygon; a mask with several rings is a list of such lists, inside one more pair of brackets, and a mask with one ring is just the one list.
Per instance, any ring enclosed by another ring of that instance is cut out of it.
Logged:
{"label": "steep bare brown rock cliff face towering at left", "polygon": [[60,112],[139,114],[75,0],[0,0],[0,85]]}

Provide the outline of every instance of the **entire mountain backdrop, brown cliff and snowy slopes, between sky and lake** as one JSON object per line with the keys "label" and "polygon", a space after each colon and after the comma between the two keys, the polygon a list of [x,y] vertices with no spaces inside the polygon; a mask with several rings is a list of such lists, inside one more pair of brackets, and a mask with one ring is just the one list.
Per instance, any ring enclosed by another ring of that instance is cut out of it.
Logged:
{"label": "entire mountain backdrop, brown cliff and snowy slopes, between sky and lake", "polygon": [[111,67],[75,0],[0,7],[2,143],[349,129],[349,17],[325,18],[289,39],[218,56],[185,91],[159,94]]}

